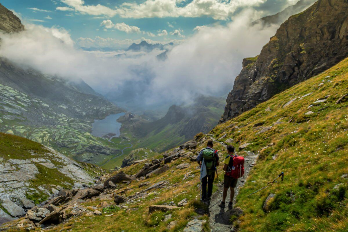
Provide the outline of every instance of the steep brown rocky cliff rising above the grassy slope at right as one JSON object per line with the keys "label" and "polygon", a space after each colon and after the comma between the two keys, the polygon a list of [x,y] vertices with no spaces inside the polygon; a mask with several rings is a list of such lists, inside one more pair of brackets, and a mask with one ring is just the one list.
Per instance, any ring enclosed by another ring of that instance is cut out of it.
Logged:
{"label": "steep brown rocky cliff rising above the grassy slope at right", "polygon": [[284,22],[235,80],[221,122],[323,72],[348,55],[348,2],[319,0]]}

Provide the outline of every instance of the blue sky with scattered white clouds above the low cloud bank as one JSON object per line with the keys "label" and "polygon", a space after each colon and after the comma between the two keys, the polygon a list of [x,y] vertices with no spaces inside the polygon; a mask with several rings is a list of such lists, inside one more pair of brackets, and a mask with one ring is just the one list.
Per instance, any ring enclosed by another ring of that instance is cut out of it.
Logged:
{"label": "blue sky with scattered white clouds above the low cloud bank", "polygon": [[[296,0],[2,0],[24,23],[63,27],[80,46],[107,46],[96,37],[118,41],[184,40],[197,26],[226,24],[246,7],[261,15],[277,13]],[[80,38],[80,39],[79,39]],[[90,38],[89,43],[85,43]],[[104,41],[105,42],[105,41]]]}

